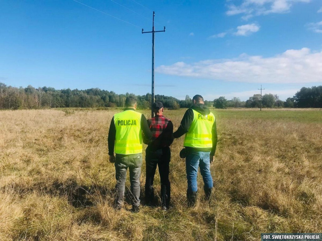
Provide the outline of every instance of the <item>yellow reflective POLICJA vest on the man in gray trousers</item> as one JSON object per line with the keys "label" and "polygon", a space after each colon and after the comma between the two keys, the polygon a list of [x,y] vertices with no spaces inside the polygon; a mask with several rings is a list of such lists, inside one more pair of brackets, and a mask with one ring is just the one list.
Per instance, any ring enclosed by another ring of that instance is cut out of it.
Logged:
{"label": "yellow reflective POLICJA vest on the man in gray trousers", "polygon": [[114,152],[130,155],[142,153],[141,113],[126,110],[114,115],[116,129]]}

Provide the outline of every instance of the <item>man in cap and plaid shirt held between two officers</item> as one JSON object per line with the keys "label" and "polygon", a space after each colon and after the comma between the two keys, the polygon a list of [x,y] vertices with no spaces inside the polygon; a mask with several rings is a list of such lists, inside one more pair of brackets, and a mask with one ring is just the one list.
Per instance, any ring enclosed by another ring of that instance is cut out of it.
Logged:
{"label": "man in cap and plaid shirt held between two officers", "polygon": [[147,120],[147,124],[152,132],[152,141],[146,149],[146,180],[145,198],[148,205],[153,205],[154,188],[153,180],[156,173],[156,165],[159,167],[161,181],[161,209],[167,210],[170,204],[170,145],[173,142],[173,124],[163,116],[163,104],[153,103],[155,117]]}

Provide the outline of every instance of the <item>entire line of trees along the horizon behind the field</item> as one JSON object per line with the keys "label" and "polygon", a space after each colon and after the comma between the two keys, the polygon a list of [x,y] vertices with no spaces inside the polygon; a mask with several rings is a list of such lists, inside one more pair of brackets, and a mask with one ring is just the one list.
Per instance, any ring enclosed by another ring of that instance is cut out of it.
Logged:
{"label": "entire line of trees along the horizon behind the field", "polygon": [[[128,96],[137,98],[139,109],[149,109],[151,107],[151,94],[135,95],[133,93],[116,94],[113,91],[91,88],[86,90],[62,89],[56,90],[52,87],[34,88],[28,85],[23,87],[12,87],[0,82],[0,109],[41,109],[41,108],[59,108],[59,107],[124,107],[125,99]],[[187,95],[185,100],[179,100],[172,96],[155,95],[156,101],[161,101],[166,108],[179,109],[191,106],[191,98]],[[322,86],[313,86],[312,88],[301,88],[292,98],[281,101],[278,96],[265,94],[260,100],[260,94],[254,94],[247,101],[241,101],[234,97],[232,100],[226,100],[224,96],[214,101],[205,101],[207,106],[216,108],[227,107],[260,107],[260,101],[263,107],[298,107],[298,108],[322,108]]]}

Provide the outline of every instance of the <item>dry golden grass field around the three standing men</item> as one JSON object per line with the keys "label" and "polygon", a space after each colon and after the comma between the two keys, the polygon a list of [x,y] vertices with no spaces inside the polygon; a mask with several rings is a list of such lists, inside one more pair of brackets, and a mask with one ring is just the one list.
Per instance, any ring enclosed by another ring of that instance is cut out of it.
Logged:
{"label": "dry golden grass field around the three standing men", "polygon": [[[199,174],[198,204],[186,205],[180,138],[171,146],[171,210],[142,205],[139,213],[112,208],[107,134],[115,112],[0,111],[0,240],[235,241],[322,232],[322,110],[213,110],[219,139],[210,202]],[[184,112],[165,111],[175,130]]]}

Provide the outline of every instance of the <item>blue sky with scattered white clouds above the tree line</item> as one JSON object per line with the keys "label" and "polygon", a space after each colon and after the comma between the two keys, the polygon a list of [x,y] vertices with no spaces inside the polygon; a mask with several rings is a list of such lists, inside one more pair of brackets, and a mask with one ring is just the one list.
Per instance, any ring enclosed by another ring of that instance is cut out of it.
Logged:
{"label": "blue sky with scattered white clouds above the tree line", "polygon": [[262,85],[285,100],[322,85],[320,0],[1,1],[0,82],[150,93],[152,36],[141,29],[152,11],[156,30],[166,26],[156,94],[247,100]]}

